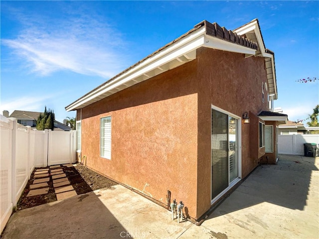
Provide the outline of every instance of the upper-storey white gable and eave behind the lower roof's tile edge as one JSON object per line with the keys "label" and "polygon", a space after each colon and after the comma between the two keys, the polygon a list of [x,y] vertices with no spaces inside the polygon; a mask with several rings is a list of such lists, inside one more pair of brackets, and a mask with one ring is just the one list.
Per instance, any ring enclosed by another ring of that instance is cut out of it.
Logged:
{"label": "upper-storey white gable and eave behind the lower roof's tile edge", "polygon": [[276,69],[275,69],[275,57],[274,53],[266,49],[263,36],[260,31],[258,19],[254,19],[251,22],[243,25],[234,30],[239,35],[245,35],[247,39],[257,42],[258,51],[256,56],[265,57],[265,65],[267,71],[267,81],[269,87],[269,95],[273,95],[273,99],[278,99],[277,82],[276,82]]}

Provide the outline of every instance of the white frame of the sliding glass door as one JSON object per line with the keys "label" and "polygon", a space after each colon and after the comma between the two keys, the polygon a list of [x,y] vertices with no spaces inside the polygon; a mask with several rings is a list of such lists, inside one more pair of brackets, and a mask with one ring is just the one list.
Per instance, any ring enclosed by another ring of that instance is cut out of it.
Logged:
{"label": "white frame of the sliding glass door", "polygon": [[[229,191],[233,186],[235,186],[240,180],[241,180],[241,125],[242,125],[242,119],[239,116],[236,116],[228,111],[225,111],[219,107],[211,105],[210,109],[210,134],[211,134],[211,125],[212,125],[212,118],[211,118],[211,112],[212,110],[219,111],[220,113],[228,115],[229,117],[232,117],[234,119],[237,119],[237,139],[238,139],[238,149],[237,149],[237,155],[238,155],[238,177],[234,179],[232,182],[229,182],[229,176],[228,176],[228,187],[225,188],[221,193],[219,193],[215,198],[211,198],[211,204],[215,203],[221,196],[223,196],[227,191]],[[228,127],[229,127],[229,121],[228,121]],[[229,137],[228,137],[228,146],[229,146]],[[212,140],[210,136],[210,148],[212,148]],[[210,149],[210,195],[212,195],[212,153]],[[229,164],[229,155],[228,155],[228,164]],[[228,168],[229,170],[229,168]]]}

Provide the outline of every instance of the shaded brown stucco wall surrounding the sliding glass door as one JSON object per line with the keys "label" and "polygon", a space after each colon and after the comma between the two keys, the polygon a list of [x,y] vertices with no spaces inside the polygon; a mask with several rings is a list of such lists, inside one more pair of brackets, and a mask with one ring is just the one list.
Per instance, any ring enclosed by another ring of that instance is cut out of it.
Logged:
{"label": "shaded brown stucco wall surrounding the sliding glass door", "polygon": [[[197,50],[198,82],[198,163],[197,215],[211,207],[211,105],[238,117],[249,113],[251,122],[242,124],[242,178],[258,165],[258,113],[268,111],[267,97],[262,101],[262,83],[266,81],[262,57],[215,49]],[[267,96],[267,92],[265,92]],[[255,119],[255,120],[254,120]],[[257,139],[257,140],[256,140]],[[256,154],[252,150],[257,150]]]}

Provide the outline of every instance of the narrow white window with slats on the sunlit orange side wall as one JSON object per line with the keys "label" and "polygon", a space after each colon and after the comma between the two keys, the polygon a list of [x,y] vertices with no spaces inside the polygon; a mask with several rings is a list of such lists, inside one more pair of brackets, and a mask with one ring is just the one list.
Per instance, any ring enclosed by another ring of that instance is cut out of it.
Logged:
{"label": "narrow white window with slats on the sunlit orange side wall", "polygon": [[111,117],[101,118],[100,156],[111,159]]}

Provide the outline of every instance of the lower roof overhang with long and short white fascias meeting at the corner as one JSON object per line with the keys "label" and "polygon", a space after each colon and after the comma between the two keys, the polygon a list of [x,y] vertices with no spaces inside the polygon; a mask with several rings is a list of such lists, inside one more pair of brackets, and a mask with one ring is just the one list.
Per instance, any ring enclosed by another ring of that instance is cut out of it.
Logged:
{"label": "lower roof overhang with long and short white fascias meeting at the corner", "polygon": [[[212,26],[215,27],[215,35],[211,33]],[[220,31],[223,31],[221,33],[222,36],[229,34],[227,35],[228,39],[220,39],[221,37],[218,35],[218,33],[220,34]],[[68,105],[65,109],[66,111],[81,109],[115,94],[116,92],[190,62],[196,59],[196,49],[200,47],[242,53],[246,56],[256,55],[256,43],[243,39],[237,36],[237,34],[235,35],[240,40],[237,43],[234,43],[236,40],[234,33],[231,31],[228,31],[224,27],[220,27],[217,23],[214,23],[213,25],[212,23],[203,21],[197,24],[189,32],[180,36],[171,43],[168,43],[160,50],[136,63],[132,67],[124,70],[122,73]],[[229,39],[231,36],[233,37],[233,42]]]}

